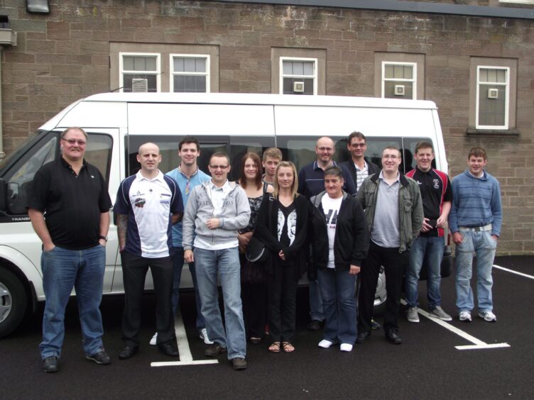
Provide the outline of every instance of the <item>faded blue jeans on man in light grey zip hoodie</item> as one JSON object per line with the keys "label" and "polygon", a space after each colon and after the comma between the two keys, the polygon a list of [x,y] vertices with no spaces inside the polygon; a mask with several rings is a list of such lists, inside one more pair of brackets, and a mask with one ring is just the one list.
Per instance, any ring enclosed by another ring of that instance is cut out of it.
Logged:
{"label": "faded blue jeans on man in light grey zip hoodie", "polygon": [[[202,304],[202,316],[206,321],[209,340],[228,348],[228,359],[246,356],[245,324],[241,306],[241,265],[237,248],[205,250],[195,248],[198,291]],[[221,281],[224,300],[222,325],[219,309],[217,275]]]}

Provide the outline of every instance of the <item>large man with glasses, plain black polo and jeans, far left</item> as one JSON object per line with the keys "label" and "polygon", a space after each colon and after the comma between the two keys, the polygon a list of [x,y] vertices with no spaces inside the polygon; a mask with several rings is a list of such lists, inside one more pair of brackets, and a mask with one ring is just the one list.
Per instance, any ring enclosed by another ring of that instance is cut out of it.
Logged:
{"label": "large man with glasses, plain black polo and jeans, far left", "polygon": [[111,199],[97,167],[84,160],[87,133],[67,128],[59,160],[33,178],[28,215],[43,242],[41,269],[46,296],[40,355],[45,372],[59,370],[65,307],[75,287],[85,358],[109,364],[102,343],[102,300]]}

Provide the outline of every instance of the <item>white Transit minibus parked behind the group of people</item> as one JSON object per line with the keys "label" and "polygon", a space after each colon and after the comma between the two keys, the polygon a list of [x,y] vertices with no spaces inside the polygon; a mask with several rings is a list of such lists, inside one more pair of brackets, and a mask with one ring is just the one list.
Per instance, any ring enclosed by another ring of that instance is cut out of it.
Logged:
{"label": "white Transit minibus parked behind the group of people", "polygon": [[[43,124],[0,165],[0,337],[45,299],[41,243],[26,212],[28,187],[43,164],[60,157],[60,132],[70,126],[87,131],[85,157],[102,171],[112,200],[121,179],[138,170],[139,145],[156,143],[163,155],[160,170],[168,172],[179,164],[178,142],[185,135],[200,141],[199,165],[205,171],[213,152],[226,152],[231,171],[236,172],[245,152],[261,155],[270,147],[280,148],[284,160],[300,168],[315,159],[315,141],[323,135],[337,141],[334,159],[344,161],[349,158],[347,136],[359,130],[367,137],[366,156],[376,165],[381,165],[382,149],[396,145],[403,152],[401,170],[408,172],[415,166],[415,145],[424,139],[434,146],[435,166],[447,172],[440,120],[432,101],[178,93],[107,93],[80,99]],[[120,294],[124,289],[113,224],[108,237],[104,294]],[[445,244],[442,276],[450,274],[452,267],[449,243]],[[146,288],[151,285],[149,276]],[[185,272],[182,286],[191,285]],[[383,304],[385,296],[381,275],[375,304]]]}

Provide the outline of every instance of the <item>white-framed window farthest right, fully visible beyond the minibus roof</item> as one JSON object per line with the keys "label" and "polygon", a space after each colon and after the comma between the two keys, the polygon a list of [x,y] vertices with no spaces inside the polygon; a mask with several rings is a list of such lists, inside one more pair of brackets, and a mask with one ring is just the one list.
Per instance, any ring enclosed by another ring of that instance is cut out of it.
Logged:
{"label": "white-framed window farthest right, fully visible beyond the minibus roof", "polygon": [[508,129],[510,68],[476,68],[476,128]]}

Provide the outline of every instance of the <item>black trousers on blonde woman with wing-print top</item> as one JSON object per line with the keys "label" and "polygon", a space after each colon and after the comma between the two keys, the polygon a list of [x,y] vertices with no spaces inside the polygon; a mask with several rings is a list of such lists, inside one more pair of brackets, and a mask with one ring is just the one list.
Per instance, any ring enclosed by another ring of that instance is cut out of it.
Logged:
{"label": "black trousers on blonde woman with wing-print top", "polygon": [[290,342],[295,336],[298,284],[295,268],[273,262],[268,289],[268,323],[273,342]]}

